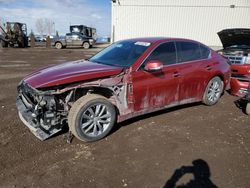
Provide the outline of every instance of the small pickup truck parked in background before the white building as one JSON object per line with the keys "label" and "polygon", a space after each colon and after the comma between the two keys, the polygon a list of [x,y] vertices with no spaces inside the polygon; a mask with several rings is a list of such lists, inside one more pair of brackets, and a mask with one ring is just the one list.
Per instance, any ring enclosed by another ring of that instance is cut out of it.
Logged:
{"label": "small pickup truck parked in background before the white building", "polygon": [[94,44],[94,39],[82,35],[81,33],[67,33],[65,37],[53,39],[53,45],[57,49],[66,48],[68,46],[82,46],[85,49],[91,48]]}

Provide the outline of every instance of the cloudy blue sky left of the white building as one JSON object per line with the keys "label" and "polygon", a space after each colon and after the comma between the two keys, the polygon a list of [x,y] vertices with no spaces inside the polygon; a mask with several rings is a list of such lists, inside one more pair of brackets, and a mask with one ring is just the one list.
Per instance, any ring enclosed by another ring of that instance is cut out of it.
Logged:
{"label": "cloudy blue sky left of the white building", "polygon": [[110,36],[110,0],[0,0],[0,21],[27,24],[37,33],[36,20],[47,18],[55,23],[60,35],[69,32],[69,25],[83,24],[97,29],[99,36]]}

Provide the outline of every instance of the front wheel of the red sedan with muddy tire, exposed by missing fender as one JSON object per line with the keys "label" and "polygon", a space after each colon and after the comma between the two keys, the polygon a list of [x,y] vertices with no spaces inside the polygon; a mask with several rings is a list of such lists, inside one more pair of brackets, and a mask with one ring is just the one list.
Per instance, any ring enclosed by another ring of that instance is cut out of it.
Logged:
{"label": "front wheel of the red sedan with muddy tire, exposed by missing fender", "polygon": [[[101,117],[101,118],[100,118]],[[102,139],[116,122],[116,110],[105,97],[89,94],[78,99],[68,115],[69,130],[79,140],[93,142]]]}

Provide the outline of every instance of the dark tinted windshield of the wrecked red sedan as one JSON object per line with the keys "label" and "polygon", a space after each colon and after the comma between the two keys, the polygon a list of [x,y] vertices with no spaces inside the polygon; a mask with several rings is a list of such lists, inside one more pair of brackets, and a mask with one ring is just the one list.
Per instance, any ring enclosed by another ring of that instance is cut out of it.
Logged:
{"label": "dark tinted windshield of the wrecked red sedan", "polygon": [[150,45],[148,42],[121,41],[110,45],[89,60],[106,65],[129,67]]}

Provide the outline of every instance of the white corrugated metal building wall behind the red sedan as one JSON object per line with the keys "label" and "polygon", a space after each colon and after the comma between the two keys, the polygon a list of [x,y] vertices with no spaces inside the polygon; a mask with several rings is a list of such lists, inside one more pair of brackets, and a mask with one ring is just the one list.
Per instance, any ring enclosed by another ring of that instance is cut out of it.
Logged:
{"label": "white corrugated metal building wall behind the red sedan", "polygon": [[250,28],[250,0],[112,0],[112,38],[164,36],[221,46],[217,32]]}

